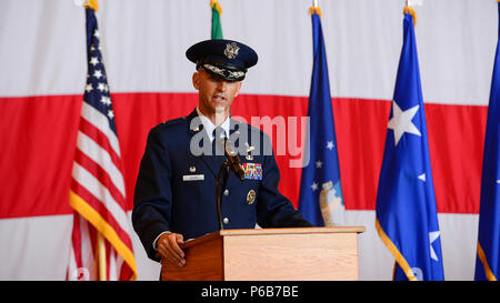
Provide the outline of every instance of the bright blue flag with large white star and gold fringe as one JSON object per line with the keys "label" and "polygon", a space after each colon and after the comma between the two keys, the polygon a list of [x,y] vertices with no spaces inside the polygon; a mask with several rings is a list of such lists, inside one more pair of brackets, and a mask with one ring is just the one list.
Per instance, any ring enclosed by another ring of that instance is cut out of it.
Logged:
{"label": "bright blue flag with large white star and gold fringe", "polygon": [[376,228],[396,259],[394,280],[443,280],[413,17],[404,13],[376,206]]}

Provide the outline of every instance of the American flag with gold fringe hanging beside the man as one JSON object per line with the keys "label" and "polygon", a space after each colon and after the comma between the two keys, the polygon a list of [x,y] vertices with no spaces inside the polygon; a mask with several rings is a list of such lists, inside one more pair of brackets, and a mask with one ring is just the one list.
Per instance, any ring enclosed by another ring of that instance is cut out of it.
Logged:
{"label": "American flag with gold fringe hanging beside the man", "polygon": [[86,17],[88,74],[71,179],[74,211],[67,279],[136,280],[123,164],[92,8],[86,9]]}

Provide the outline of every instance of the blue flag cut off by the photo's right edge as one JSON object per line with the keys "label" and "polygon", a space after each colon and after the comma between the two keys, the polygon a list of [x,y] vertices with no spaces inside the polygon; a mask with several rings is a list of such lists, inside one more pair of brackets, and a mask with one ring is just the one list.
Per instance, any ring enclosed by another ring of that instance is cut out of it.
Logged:
{"label": "blue flag cut off by the photo's right edge", "polygon": [[[500,17],[500,3],[498,4]],[[500,23],[499,23],[500,37]],[[500,262],[500,50],[497,41],[482,155],[474,280],[497,281]]]}

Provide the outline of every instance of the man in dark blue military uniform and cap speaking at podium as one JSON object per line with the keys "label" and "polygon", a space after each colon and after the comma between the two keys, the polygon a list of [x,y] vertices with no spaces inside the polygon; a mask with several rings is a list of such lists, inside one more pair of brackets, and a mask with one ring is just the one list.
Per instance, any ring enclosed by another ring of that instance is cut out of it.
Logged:
{"label": "man in dark blue military uniform and cap speaking at podium", "polygon": [[[182,266],[179,244],[217,231],[219,224],[311,226],[278,191],[280,173],[269,137],[230,119],[231,103],[247,70],[257,63],[257,53],[237,41],[207,40],[186,55],[197,64],[192,84],[199,91],[198,107],[150,131],[136,184],[132,223],[148,256]],[[243,180],[236,171],[221,171],[218,222],[216,180],[228,138],[238,151]]]}

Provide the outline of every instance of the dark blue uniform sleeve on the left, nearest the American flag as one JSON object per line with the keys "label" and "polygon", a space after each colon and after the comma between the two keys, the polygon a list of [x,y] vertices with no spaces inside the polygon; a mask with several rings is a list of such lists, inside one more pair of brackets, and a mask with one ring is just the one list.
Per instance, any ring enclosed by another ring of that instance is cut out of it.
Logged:
{"label": "dark blue uniform sleeve on the left, nearest the American flag", "polygon": [[133,196],[132,224],[148,256],[154,261],[153,242],[169,230],[171,213],[171,164],[160,129],[148,134]]}

